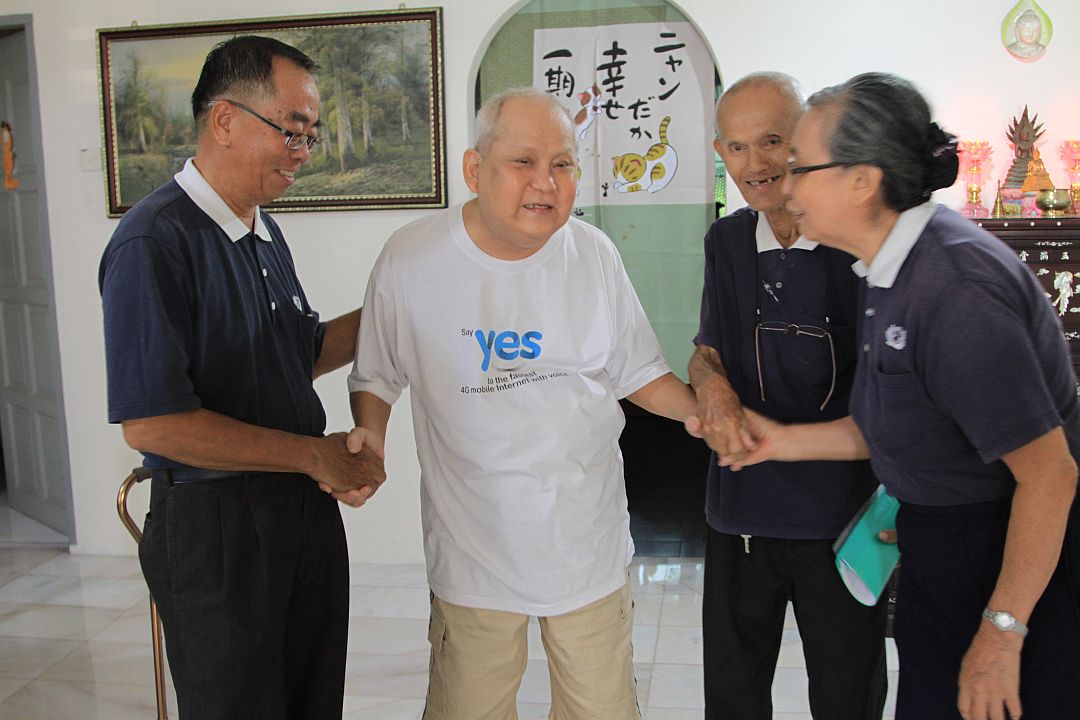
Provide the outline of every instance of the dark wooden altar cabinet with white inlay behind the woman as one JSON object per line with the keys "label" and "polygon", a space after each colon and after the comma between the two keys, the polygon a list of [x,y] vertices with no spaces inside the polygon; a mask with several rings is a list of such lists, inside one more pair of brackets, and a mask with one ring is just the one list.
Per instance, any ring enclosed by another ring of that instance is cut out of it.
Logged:
{"label": "dark wooden altar cabinet with white inlay behind the woman", "polygon": [[1013,248],[1035,273],[1065,326],[1080,375],[1080,217],[973,220]]}

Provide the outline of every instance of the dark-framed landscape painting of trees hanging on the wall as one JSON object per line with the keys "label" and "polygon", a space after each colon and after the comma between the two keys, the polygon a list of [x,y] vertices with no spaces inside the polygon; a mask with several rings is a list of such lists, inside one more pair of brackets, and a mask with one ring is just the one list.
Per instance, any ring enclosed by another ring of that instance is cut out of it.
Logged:
{"label": "dark-framed landscape painting of trees hanging on the wall", "polygon": [[323,141],[268,210],[446,207],[441,8],[97,30],[109,217],[195,153],[191,92],[210,50],[266,35],[319,63]]}

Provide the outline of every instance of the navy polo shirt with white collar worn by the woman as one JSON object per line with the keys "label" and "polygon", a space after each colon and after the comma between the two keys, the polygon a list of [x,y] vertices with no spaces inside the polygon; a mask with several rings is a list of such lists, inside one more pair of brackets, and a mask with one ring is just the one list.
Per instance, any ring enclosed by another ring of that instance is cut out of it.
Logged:
{"label": "navy polo shirt with white collar worn by the woman", "polygon": [[866,276],[860,344],[851,413],[904,502],[1007,498],[1001,458],[1059,425],[1080,450],[1057,316],[1015,254],[953,210],[901,215]]}

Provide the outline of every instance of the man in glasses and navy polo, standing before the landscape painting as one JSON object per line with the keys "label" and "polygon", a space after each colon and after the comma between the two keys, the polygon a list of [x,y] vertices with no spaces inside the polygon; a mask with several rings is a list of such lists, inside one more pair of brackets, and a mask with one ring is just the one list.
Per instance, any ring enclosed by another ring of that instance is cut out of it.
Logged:
{"label": "man in glasses and navy polo, standing before the landscape painting", "polygon": [[109,420],[152,470],[139,557],[181,718],[341,717],[349,571],[337,502],[384,479],[365,431],[323,436],[312,380],[352,361],[360,310],[321,323],[278,225],[318,144],[315,64],[240,37],[192,95],[195,157],[102,258]]}

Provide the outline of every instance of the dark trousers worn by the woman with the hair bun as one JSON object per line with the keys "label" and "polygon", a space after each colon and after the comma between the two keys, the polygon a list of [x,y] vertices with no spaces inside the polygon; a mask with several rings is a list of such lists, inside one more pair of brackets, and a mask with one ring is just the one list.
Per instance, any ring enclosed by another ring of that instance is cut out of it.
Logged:
{"label": "dark trousers worn by the woman with the hair bun", "polygon": [[[954,507],[902,504],[894,634],[896,720],[960,720],[960,662],[997,583],[1010,502]],[[1021,651],[1024,720],[1080,718],[1080,521],[1028,621]],[[1002,608],[1004,609],[1004,608]]]}

